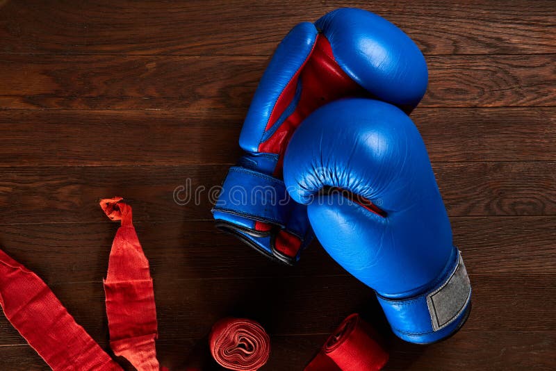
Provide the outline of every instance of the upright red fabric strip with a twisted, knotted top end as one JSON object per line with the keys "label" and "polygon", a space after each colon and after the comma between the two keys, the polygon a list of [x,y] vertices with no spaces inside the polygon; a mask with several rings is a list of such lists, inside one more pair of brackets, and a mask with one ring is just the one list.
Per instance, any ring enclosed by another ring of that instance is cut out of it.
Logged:
{"label": "upright red fabric strip with a twisted, knotted top end", "polygon": [[110,345],[137,370],[159,370],[154,289],[149,261],[143,254],[132,223],[131,206],[122,197],[102,199],[100,206],[122,226],[114,238],[104,280]]}

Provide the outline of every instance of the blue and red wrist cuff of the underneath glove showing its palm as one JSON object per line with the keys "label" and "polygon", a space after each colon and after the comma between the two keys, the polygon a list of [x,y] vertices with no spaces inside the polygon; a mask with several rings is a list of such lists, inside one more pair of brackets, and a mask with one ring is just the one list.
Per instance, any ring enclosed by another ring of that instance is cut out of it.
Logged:
{"label": "blue and red wrist cuff of the underneath glove showing its palm", "polygon": [[306,206],[289,197],[284,181],[253,168],[230,168],[212,212],[218,229],[288,265],[312,239]]}

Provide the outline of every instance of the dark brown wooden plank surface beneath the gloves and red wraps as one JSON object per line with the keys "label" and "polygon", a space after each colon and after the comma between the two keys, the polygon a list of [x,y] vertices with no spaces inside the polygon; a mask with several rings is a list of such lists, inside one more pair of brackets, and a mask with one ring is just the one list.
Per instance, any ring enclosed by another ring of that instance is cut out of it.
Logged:
{"label": "dark brown wooden plank surface beneath the gloves and red wraps", "polygon": [[[430,69],[411,117],[474,295],[465,327],[439,344],[395,338],[373,292],[318,242],[284,267],[211,220],[275,47],[339,6],[400,26]],[[227,315],[270,332],[261,370],[300,370],[354,311],[385,337],[385,370],[555,370],[555,19],[550,0],[0,0],[0,247],[108,350],[102,279],[117,223],[97,201],[126,197],[171,370],[206,354]],[[204,190],[179,204],[188,179]],[[1,315],[0,370],[48,370]]]}

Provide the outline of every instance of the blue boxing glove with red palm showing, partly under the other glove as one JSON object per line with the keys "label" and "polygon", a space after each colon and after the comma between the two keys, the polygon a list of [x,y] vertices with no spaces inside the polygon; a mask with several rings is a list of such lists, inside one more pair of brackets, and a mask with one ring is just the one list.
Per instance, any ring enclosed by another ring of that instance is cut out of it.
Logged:
{"label": "blue boxing glove with red palm showing, partly under the other glove", "polygon": [[427,66],[398,27],[344,8],[295,26],[259,83],[240,135],[245,155],[231,167],[213,208],[217,227],[293,264],[313,233],[306,207],[288,197],[284,151],[302,120],[343,97],[376,97],[407,113],[427,88]]}

